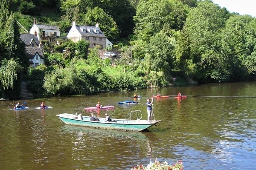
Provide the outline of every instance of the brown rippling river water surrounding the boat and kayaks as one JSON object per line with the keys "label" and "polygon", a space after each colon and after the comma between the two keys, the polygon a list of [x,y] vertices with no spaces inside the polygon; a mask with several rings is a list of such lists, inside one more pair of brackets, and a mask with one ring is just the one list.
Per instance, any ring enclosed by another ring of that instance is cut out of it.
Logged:
{"label": "brown rippling river water surrounding the boat and kayaks", "polygon": [[[59,113],[82,113],[84,107],[115,105],[95,112],[125,118],[154,99],[154,117],[162,120],[146,132],[122,132],[66,125]],[[178,100],[172,95],[187,95]],[[0,101],[0,169],[129,170],[134,165],[182,161],[185,170],[256,169],[256,82],[143,89],[138,104],[133,92],[52,97],[20,101],[29,109],[10,110],[17,101]],[[35,109],[41,101],[52,109]]]}

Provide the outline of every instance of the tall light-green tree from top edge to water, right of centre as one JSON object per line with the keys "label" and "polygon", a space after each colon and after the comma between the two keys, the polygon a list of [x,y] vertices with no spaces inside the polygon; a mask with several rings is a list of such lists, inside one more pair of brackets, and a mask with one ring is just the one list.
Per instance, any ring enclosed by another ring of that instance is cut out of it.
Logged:
{"label": "tall light-green tree from top edge to water, right of centre", "polygon": [[189,36],[191,59],[196,65],[196,76],[201,81],[225,81],[229,77],[219,43],[225,15],[219,6],[204,0],[186,18],[185,31]]}

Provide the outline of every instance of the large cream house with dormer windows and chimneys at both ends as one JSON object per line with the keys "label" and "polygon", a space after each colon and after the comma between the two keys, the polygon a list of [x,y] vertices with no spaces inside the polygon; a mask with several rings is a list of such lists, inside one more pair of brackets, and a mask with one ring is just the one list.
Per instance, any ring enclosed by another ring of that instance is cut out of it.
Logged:
{"label": "large cream house with dormer windows and chimneys at both ends", "polygon": [[90,42],[89,48],[100,46],[101,49],[106,47],[112,49],[113,45],[99,29],[99,24],[95,26],[78,26],[76,22],[73,22],[67,37],[75,43],[81,39],[87,40]]}

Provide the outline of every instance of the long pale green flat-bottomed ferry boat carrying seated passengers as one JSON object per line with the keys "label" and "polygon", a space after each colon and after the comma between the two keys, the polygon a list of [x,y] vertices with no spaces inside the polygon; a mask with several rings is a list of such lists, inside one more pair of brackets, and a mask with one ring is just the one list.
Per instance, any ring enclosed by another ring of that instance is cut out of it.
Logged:
{"label": "long pale green flat-bottomed ferry boat carrying seated passengers", "polygon": [[105,122],[104,118],[99,118],[100,121],[90,121],[89,116],[82,116],[83,120],[78,119],[77,115],[62,113],[57,115],[65,124],[84,126],[84,127],[95,127],[102,129],[111,130],[125,130],[125,131],[142,131],[154,126],[160,121],[145,121],[145,120],[124,120],[124,119],[113,119],[116,122]]}

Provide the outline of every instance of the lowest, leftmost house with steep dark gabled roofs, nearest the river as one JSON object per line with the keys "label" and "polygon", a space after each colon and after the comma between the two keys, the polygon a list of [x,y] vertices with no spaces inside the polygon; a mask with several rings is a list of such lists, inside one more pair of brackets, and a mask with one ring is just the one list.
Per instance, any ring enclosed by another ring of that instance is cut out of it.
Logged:
{"label": "lowest, leftmost house with steep dark gabled roofs, nearest the river", "polygon": [[25,44],[30,66],[35,68],[40,64],[44,64],[43,44],[40,43],[38,38],[31,34],[20,34],[20,40]]}

